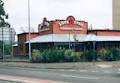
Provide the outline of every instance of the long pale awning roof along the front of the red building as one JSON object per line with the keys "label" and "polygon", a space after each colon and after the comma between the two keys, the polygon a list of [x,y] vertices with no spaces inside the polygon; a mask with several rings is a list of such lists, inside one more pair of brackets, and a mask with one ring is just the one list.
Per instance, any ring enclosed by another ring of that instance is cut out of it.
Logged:
{"label": "long pale awning roof along the front of the red building", "polygon": [[[83,34],[48,34],[30,40],[31,43],[46,42],[87,42],[87,41],[120,41],[120,36],[96,36]],[[28,43],[29,41],[25,42]]]}

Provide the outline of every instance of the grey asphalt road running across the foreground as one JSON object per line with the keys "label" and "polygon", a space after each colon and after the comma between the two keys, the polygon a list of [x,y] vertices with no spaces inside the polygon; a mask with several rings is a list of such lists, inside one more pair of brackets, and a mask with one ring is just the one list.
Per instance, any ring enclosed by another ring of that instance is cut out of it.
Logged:
{"label": "grey asphalt road running across the foreground", "polygon": [[18,79],[23,77],[24,79],[49,80],[53,83],[120,83],[119,68],[116,69],[106,65],[99,66],[102,67],[90,69],[39,69],[0,66],[0,75],[1,77],[2,75],[18,77]]}

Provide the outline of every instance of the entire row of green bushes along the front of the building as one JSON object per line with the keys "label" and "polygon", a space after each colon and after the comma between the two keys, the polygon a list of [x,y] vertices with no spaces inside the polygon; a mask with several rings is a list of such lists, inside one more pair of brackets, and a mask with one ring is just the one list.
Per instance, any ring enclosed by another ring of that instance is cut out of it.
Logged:
{"label": "entire row of green bushes along the front of the building", "polygon": [[118,48],[101,49],[99,52],[89,50],[76,54],[71,49],[47,49],[34,50],[32,52],[31,62],[78,62],[78,61],[97,61],[98,59],[105,61],[120,60],[120,50]]}

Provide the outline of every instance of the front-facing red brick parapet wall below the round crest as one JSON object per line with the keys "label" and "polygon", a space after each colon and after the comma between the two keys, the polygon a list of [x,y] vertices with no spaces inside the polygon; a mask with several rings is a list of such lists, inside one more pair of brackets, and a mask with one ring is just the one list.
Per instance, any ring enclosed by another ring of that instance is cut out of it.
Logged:
{"label": "front-facing red brick parapet wall below the round crest", "polygon": [[[66,24],[64,26],[60,26],[59,22],[56,21],[53,23],[53,33],[54,34],[87,34],[88,24],[86,22],[83,22],[83,27],[77,25],[77,24]],[[63,27],[66,28],[66,30],[62,29]],[[67,28],[71,28],[67,30]],[[80,30],[77,30],[76,28],[79,28]]]}

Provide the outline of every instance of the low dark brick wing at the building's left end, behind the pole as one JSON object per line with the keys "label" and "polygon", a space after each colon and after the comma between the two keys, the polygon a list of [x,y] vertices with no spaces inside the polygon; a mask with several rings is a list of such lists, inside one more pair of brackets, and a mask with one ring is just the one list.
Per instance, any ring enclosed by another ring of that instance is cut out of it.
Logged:
{"label": "low dark brick wing at the building's left end, behind the pole", "polygon": [[[31,33],[30,39],[33,39],[38,36],[38,33]],[[28,45],[25,43],[29,41],[29,33],[21,33],[17,35],[18,42],[14,45],[13,55],[27,55],[28,53]]]}

